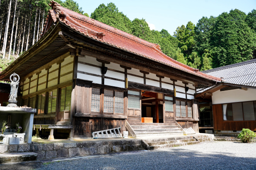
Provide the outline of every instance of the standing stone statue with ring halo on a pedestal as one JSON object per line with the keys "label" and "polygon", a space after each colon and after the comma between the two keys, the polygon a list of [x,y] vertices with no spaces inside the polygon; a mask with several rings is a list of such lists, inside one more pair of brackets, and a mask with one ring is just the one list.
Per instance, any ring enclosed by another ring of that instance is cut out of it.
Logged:
{"label": "standing stone statue with ring halo on a pedestal", "polygon": [[[18,79],[17,79],[17,77]],[[13,77],[13,79],[12,79]],[[6,106],[6,107],[17,107],[17,93],[18,93],[18,87],[19,87],[19,80],[20,80],[20,77],[19,75],[17,75],[16,73],[12,74],[10,76],[10,80],[11,80],[11,92],[10,92],[10,95],[9,95],[9,104]]]}

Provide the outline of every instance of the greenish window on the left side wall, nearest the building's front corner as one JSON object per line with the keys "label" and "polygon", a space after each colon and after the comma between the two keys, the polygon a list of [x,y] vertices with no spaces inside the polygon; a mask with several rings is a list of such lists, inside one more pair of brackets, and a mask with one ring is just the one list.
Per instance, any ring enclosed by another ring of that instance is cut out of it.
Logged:
{"label": "greenish window on the left side wall, nearest the building's front corner", "polygon": [[72,86],[61,88],[60,111],[70,111]]}

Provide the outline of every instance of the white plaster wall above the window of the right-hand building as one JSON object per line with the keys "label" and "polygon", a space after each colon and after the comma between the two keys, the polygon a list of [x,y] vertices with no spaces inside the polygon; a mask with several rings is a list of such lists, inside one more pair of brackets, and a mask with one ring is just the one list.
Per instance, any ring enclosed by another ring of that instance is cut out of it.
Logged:
{"label": "white plaster wall above the window of the right-hand building", "polygon": [[228,91],[215,91],[212,94],[212,104],[246,102],[256,100],[256,89],[247,88],[247,91],[242,89],[234,89]]}

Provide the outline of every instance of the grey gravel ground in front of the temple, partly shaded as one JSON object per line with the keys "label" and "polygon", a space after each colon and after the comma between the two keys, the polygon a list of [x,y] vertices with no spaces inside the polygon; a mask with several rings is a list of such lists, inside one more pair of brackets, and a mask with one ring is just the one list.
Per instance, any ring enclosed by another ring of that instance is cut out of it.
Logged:
{"label": "grey gravel ground in front of the temple, partly shaded", "polygon": [[44,163],[37,170],[256,170],[256,143],[207,142]]}

